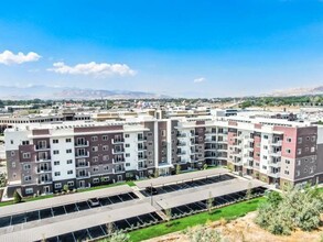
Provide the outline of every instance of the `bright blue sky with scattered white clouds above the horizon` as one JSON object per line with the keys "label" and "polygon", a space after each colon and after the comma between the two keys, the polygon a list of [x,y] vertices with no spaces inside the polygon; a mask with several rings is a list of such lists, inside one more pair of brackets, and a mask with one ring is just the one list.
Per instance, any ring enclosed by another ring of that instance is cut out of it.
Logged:
{"label": "bright blue sky with scattered white clouds above the horizon", "polygon": [[2,1],[0,86],[228,97],[323,85],[323,0]]}

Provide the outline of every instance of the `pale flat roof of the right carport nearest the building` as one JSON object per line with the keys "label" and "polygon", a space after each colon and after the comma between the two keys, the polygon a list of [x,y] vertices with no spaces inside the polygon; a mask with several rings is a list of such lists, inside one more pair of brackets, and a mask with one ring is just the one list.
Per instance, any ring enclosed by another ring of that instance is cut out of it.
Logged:
{"label": "pale flat roof of the right carport nearest the building", "polygon": [[216,176],[216,175],[226,174],[228,172],[229,170],[226,168],[204,169],[204,170],[184,173],[184,174],[174,175],[174,176],[161,176],[153,179],[134,182],[134,184],[139,188],[143,189],[150,186],[155,187],[155,186],[162,186],[162,185],[173,184],[173,183],[179,183],[184,180],[198,179],[198,178],[204,178],[206,176]]}

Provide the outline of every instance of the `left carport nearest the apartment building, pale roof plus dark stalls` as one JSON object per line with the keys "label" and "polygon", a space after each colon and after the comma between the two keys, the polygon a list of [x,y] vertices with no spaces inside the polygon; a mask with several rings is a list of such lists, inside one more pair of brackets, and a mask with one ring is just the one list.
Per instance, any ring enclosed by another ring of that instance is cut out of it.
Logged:
{"label": "left carport nearest the apartment building, pale roof plus dark stalls", "polygon": [[95,190],[64,195],[33,202],[18,204],[3,207],[0,210],[0,228],[20,223],[47,219],[72,212],[90,209],[90,198],[98,198],[99,206],[108,206],[138,198],[128,186],[112,187],[109,189]]}

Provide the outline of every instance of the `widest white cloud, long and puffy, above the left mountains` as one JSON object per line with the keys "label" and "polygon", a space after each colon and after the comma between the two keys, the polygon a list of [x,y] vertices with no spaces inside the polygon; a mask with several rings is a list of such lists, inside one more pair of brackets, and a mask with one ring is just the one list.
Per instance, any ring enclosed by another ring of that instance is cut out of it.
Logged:
{"label": "widest white cloud, long and puffy, above the left mountains", "polygon": [[107,64],[107,63],[86,63],[77,64],[75,66],[67,66],[63,62],[54,63],[53,68],[47,69],[58,74],[71,75],[91,75],[95,77],[109,77],[109,76],[134,76],[136,70],[131,69],[126,64]]}

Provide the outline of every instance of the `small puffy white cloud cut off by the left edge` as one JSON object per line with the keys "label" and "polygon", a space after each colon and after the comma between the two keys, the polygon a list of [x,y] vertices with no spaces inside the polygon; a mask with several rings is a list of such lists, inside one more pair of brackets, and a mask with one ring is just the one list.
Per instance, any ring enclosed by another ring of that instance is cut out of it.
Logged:
{"label": "small puffy white cloud cut off by the left edge", "polygon": [[10,51],[4,51],[0,54],[0,64],[4,65],[13,65],[13,64],[22,64],[22,63],[29,63],[29,62],[36,62],[41,58],[41,56],[37,53],[30,52],[26,55],[24,55],[22,52],[19,52],[18,54],[13,54]]}

